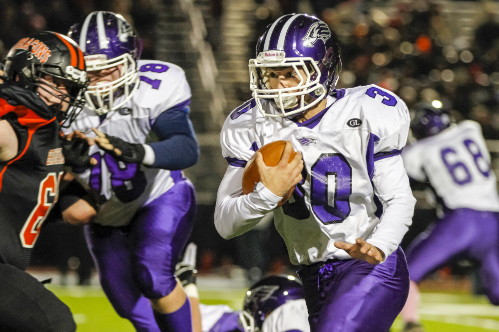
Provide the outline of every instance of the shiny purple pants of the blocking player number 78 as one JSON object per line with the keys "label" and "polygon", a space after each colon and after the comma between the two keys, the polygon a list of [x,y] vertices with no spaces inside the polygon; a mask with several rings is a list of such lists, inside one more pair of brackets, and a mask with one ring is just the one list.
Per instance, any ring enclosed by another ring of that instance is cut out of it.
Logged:
{"label": "shiny purple pants of the blocking player number 78", "polygon": [[138,210],[128,226],[85,226],[102,289],[118,315],[139,332],[159,332],[148,299],[162,298],[177,285],[175,265],[195,209],[194,187],[181,180]]}

